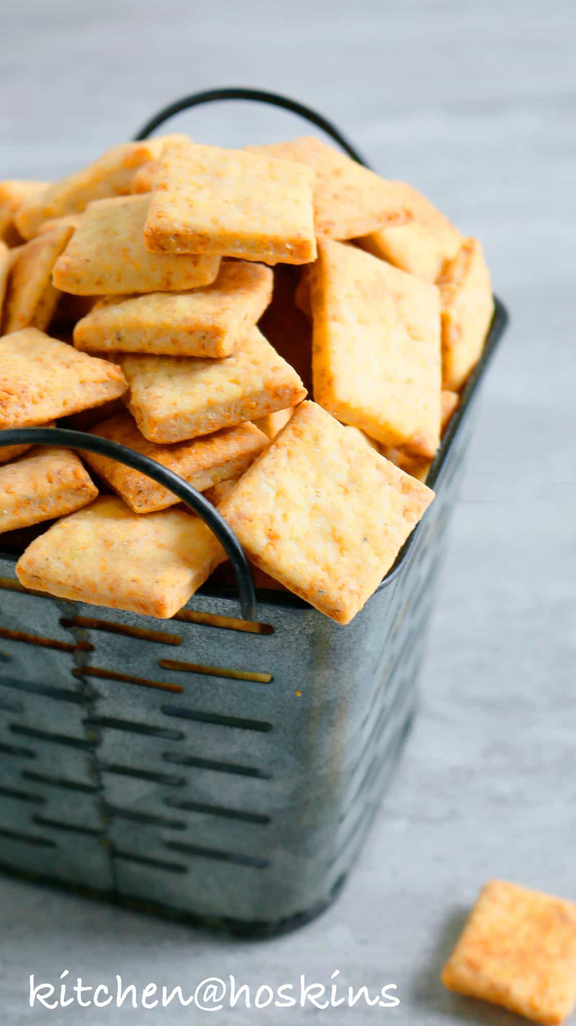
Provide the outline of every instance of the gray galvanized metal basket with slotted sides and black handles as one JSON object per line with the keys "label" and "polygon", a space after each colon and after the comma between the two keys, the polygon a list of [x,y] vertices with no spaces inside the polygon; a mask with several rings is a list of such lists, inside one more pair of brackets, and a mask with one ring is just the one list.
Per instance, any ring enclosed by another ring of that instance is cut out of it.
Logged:
{"label": "gray galvanized metal basket with slotted sides and black handles", "polygon": [[[188,97],[257,98],[254,90]],[[414,713],[435,584],[496,313],[428,483],[437,499],[352,624],[258,590],[209,503],[154,461],[57,429],[16,440],[94,448],[200,513],[239,576],[172,621],[27,591],[0,552],[0,868],[244,935],[321,911],[353,866]],[[56,437],[57,436],[57,437]],[[99,446],[99,448],[98,448]],[[0,545],[2,539],[0,538]]]}

